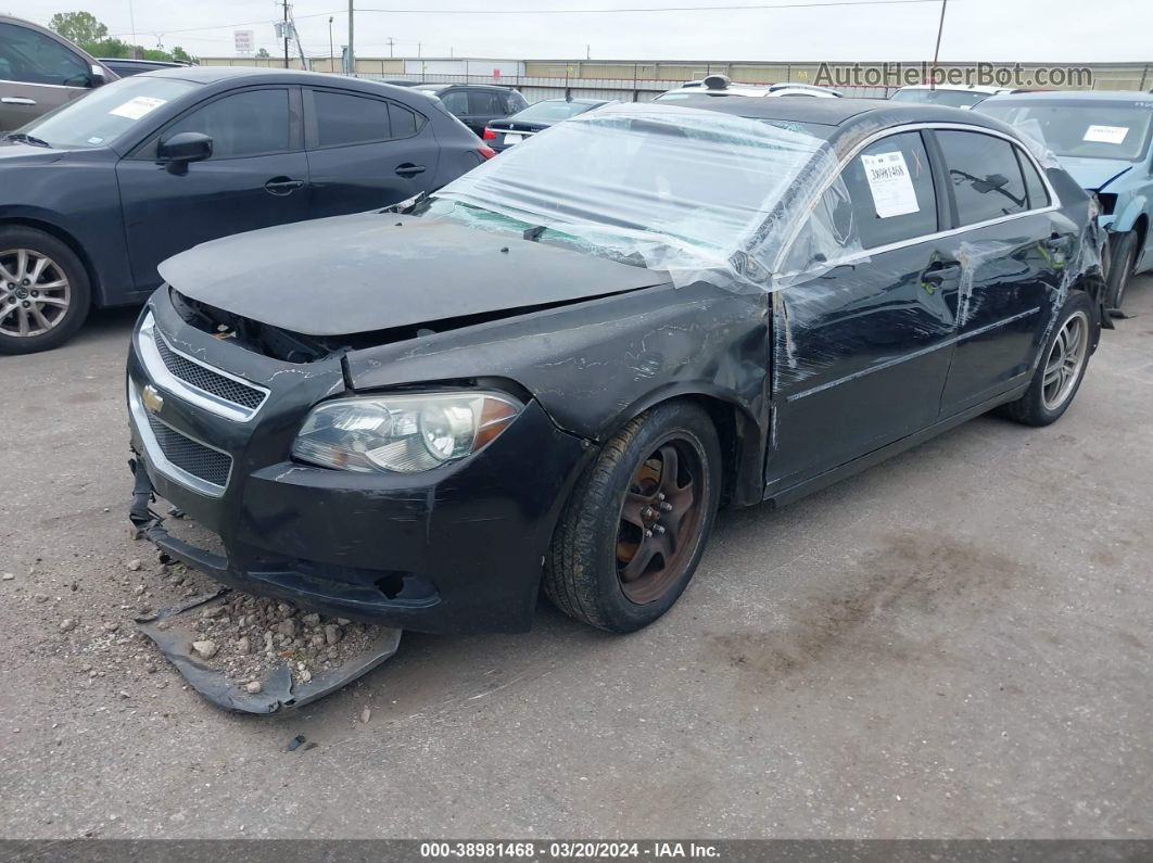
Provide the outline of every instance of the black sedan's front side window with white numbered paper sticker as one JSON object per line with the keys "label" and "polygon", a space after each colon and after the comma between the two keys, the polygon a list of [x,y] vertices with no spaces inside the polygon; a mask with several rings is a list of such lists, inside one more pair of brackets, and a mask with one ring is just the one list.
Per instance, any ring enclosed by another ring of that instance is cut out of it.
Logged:
{"label": "black sedan's front side window with white numbered paper sticker", "polygon": [[841,177],[862,248],[936,233],[933,172],[920,133],[900,133],[869,144]]}

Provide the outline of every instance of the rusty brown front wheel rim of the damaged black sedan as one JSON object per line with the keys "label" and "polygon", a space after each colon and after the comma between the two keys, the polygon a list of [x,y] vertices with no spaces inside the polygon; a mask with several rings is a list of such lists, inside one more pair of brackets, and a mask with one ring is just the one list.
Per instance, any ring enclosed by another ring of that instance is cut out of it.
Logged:
{"label": "rusty brown front wheel rim of the damaged black sedan", "polygon": [[677,438],[633,474],[617,531],[617,578],[631,601],[656,601],[692,561],[704,522],[703,475],[695,447]]}

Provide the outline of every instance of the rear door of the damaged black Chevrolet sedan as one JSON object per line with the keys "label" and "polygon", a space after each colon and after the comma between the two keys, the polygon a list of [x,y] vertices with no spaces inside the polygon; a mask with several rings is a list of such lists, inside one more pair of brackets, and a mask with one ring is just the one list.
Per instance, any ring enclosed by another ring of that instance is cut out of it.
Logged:
{"label": "rear door of the damaged black Chevrolet sedan", "polygon": [[1076,226],[1025,149],[993,133],[937,129],[960,280],[949,296],[957,346],[942,396],[950,416],[1024,383],[1045,339]]}

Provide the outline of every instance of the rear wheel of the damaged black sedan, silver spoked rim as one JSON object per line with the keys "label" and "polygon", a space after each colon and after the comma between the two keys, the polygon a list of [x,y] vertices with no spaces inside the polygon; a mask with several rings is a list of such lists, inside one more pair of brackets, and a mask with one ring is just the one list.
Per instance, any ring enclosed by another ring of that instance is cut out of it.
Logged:
{"label": "rear wheel of the damaged black sedan, silver spoked rim", "polygon": [[1093,305],[1082,290],[1070,292],[1045,343],[1041,362],[1025,394],[1000,411],[1025,425],[1048,425],[1069,409],[1088,368]]}

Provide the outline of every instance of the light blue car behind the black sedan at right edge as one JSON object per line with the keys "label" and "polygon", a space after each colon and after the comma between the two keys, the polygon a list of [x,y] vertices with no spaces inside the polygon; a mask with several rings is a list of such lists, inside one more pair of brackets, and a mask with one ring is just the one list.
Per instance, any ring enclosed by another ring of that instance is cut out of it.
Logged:
{"label": "light blue car behind the black sedan at right edge", "polygon": [[1108,304],[1120,309],[1129,278],[1153,270],[1153,94],[1012,93],[974,111],[1042,137],[1082,188],[1097,195],[1108,237]]}

